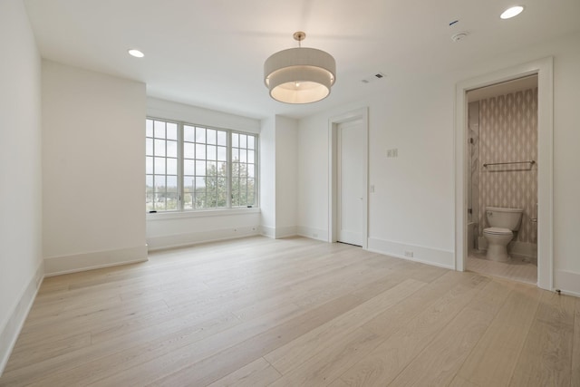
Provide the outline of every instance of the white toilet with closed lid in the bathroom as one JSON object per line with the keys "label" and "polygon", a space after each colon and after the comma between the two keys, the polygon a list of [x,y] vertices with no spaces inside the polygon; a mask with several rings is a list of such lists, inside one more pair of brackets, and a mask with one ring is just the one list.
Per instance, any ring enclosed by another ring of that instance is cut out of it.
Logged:
{"label": "white toilet with closed lid in the bathroom", "polygon": [[519,229],[523,213],[522,208],[486,207],[489,227],[483,229],[483,237],[488,241],[488,259],[509,260],[507,244],[513,239],[513,232]]}

